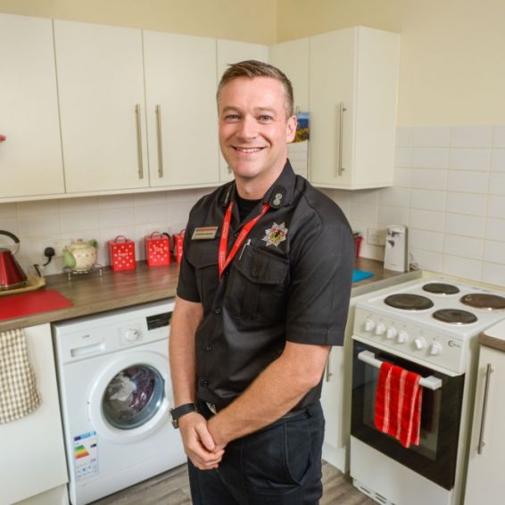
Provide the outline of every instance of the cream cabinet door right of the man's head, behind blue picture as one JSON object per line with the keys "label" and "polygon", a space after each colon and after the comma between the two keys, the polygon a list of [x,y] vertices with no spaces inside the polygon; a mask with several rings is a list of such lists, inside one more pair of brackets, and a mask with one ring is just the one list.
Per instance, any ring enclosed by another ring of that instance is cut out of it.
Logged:
{"label": "cream cabinet door right of the man's head, behind blue picture", "polygon": [[[297,38],[269,47],[270,63],[291,80],[294,90],[294,111],[309,112],[309,38]],[[309,142],[287,146],[287,157],[294,172],[308,177]]]}

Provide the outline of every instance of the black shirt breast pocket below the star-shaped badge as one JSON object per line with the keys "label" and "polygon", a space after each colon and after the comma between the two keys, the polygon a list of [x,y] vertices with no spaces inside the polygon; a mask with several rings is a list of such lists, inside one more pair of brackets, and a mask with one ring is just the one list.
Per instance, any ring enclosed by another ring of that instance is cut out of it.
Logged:
{"label": "black shirt breast pocket below the star-shaped badge", "polygon": [[260,325],[284,321],[289,266],[286,258],[249,246],[232,265],[227,296],[230,316]]}

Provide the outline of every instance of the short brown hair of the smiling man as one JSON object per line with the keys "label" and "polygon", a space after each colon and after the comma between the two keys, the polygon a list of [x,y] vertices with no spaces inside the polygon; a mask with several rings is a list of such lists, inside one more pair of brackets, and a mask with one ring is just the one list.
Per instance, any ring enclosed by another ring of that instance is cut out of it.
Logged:
{"label": "short brown hair of the smiling man", "polygon": [[286,74],[283,71],[278,70],[277,67],[265,62],[257,62],[256,60],[245,60],[244,62],[229,65],[228,70],[225,71],[219,81],[218,93],[216,94],[218,103],[222,87],[228,84],[230,80],[237,79],[239,77],[246,77],[249,79],[253,79],[255,77],[269,77],[277,79],[282,84],[286,95],[286,117],[289,118],[290,116],[293,116],[294,95],[291,81],[287,79]]}

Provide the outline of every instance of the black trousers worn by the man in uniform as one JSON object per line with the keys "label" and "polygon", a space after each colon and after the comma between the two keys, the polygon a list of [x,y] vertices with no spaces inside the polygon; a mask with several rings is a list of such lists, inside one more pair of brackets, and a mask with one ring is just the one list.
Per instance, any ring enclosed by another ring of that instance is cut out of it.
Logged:
{"label": "black trousers worn by the man in uniform", "polygon": [[228,443],[215,470],[188,461],[194,505],[318,505],[324,425],[317,402]]}

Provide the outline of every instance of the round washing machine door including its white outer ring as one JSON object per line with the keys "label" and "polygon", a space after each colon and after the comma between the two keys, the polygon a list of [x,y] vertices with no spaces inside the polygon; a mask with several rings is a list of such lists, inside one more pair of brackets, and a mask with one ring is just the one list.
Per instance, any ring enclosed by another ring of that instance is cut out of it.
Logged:
{"label": "round washing machine door including its white outer ring", "polygon": [[131,443],[170,423],[169,363],[157,352],[128,352],[95,378],[87,400],[98,435]]}

